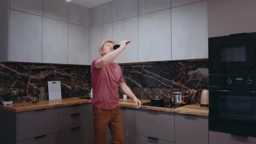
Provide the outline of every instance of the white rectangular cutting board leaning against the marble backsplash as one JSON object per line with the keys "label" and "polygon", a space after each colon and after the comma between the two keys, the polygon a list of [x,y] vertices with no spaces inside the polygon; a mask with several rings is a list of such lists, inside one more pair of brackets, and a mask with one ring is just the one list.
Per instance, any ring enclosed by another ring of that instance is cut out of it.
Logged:
{"label": "white rectangular cutting board leaning against the marble backsplash", "polygon": [[60,81],[48,82],[49,100],[61,99]]}

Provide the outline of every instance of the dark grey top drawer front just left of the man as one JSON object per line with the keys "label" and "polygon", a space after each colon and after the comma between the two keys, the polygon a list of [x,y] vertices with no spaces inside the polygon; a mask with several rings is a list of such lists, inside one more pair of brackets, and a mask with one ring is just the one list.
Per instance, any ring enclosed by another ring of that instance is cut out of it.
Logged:
{"label": "dark grey top drawer front just left of the man", "polygon": [[59,116],[79,114],[82,112],[88,112],[90,110],[90,104],[71,105],[59,108]]}

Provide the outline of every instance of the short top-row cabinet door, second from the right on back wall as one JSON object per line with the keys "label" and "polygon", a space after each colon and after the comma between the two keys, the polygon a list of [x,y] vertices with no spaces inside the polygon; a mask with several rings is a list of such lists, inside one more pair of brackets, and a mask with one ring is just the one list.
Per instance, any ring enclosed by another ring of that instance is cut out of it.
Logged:
{"label": "short top-row cabinet door, second from the right on back wall", "polygon": [[170,0],[139,0],[139,15],[171,7]]}

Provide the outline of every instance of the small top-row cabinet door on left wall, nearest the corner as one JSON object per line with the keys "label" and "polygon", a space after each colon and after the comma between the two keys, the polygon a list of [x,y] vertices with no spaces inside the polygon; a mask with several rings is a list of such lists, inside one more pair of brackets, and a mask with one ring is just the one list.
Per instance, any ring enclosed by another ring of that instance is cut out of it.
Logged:
{"label": "small top-row cabinet door on left wall, nearest the corner", "polygon": [[75,3],[69,3],[69,23],[89,26],[89,9]]}

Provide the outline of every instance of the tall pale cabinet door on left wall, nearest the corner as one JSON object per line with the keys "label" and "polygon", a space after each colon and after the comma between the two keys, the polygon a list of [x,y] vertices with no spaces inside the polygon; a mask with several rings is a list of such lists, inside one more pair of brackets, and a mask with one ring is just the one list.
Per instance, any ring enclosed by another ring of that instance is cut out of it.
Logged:
{"label": "tall pale cabinet door on left wall, nearest the corner", "polygon": [[90,65],[89,28],[69,23],[68,63]]}

